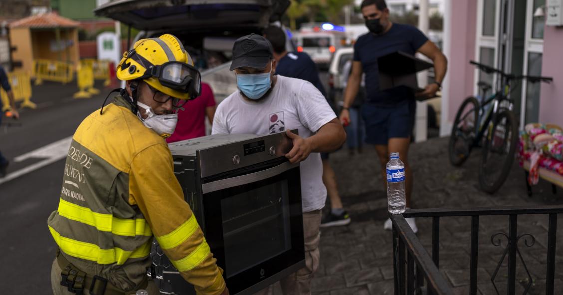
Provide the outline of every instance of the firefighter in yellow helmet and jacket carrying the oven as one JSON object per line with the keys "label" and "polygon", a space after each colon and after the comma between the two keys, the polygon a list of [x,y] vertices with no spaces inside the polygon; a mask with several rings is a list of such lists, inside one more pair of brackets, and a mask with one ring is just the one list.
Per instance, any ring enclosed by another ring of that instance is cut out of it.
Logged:
{"label": "firefighter in yellow helmet and jacket carrying the oven", "polygon": [[146,275],[154,236],[198,294],[228,294],[164,141],[175,110],[199,95],[199,72],[173,35],[133,47],[117,68],[126,90],[84,119],[66,157],[59,208],[48,219],[59,245],[53,293],[157,294]]}

